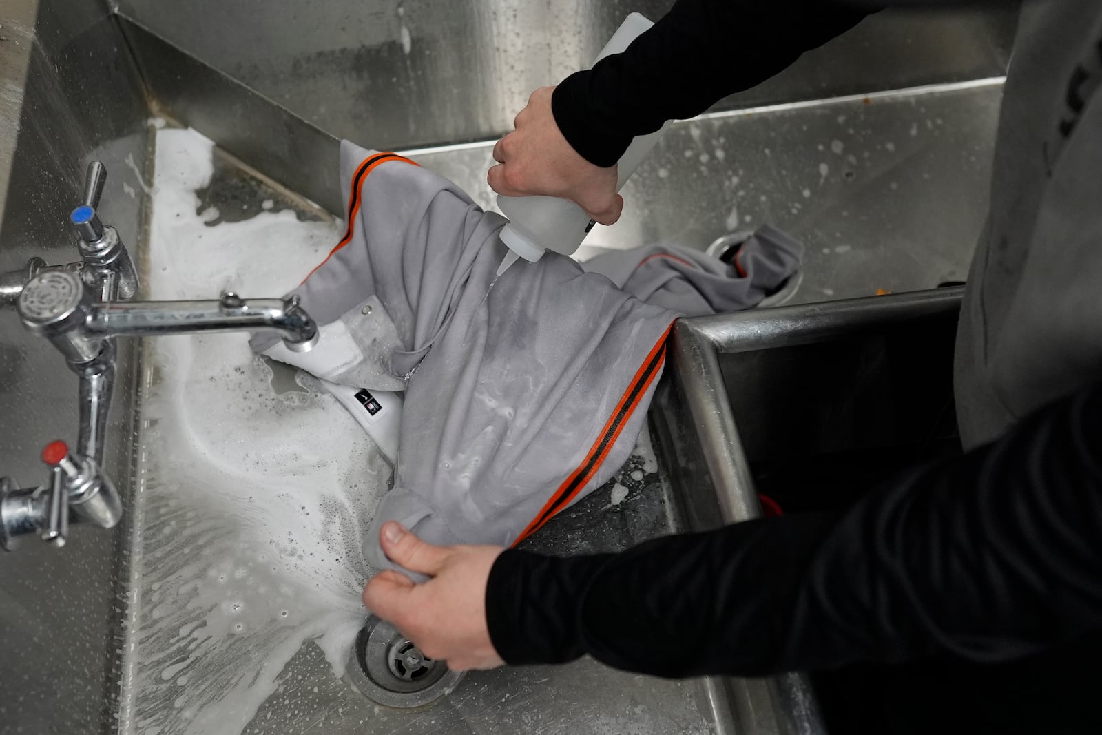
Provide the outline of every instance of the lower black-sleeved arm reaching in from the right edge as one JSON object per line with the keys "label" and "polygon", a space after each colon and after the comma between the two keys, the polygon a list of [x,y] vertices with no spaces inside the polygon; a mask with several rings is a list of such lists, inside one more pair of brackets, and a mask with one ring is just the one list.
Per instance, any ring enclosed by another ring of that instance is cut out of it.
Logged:
{"label": "lower black-sleeved arm reaching in from the right edge", "polygon": [[660,675],[936,652],[1012,658],[1102,625],[1099,539],[1094,386],[844,514],[738,523],[615,555],[506,552],[487,617],[506,661],[588,652]]}

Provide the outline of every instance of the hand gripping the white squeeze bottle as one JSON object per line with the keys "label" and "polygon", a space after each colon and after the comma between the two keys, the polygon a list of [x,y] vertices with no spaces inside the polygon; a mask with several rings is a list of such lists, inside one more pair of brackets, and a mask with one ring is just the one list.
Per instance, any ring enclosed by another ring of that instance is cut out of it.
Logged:
{"label": "hand gripping the white squeeze bottle", "polygon": [[571,199],[591,219],[612,225],[624,198],[616,193],[616,166],[595,166],[571,148],[551,112],[554,87],[540,87],[514,121],[516,130],[494,145],[486,174],[490,188],[506,196],[544,194]]}

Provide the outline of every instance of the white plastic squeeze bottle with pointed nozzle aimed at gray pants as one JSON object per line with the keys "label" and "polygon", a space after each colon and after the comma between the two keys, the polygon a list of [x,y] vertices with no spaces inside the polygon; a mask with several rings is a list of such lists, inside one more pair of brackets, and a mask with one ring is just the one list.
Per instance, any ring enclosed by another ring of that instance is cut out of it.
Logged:
{"label": "white plastic squeeze bottle with pointed nozzle aimed at gray pants", "polygon": [[[644,31],[653,23],[639,13],[629,14],[597,54],[601,61],[611,54],[625,51]],[[596,62],[594,62],[596,63]],[[660,129],[631,141],[617,162],[616,191],[630,177],[650,152],[658,139],[670,126],[667,121]],[[555,196],[504,196],[498,195],[497,206],[509,218],[501,230],[501,241],[509,248],[498,274],[505,272],[518,257],[536,262],[547,250],[564,256],[573,255],[593,228],[593,220],[585,210],[571,202]]]}

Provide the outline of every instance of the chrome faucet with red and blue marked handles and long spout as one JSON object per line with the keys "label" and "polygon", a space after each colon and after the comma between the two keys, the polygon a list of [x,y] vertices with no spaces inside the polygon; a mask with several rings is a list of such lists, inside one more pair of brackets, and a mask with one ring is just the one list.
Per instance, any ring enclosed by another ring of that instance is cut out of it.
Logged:
{"label": "chrome faucet with red and blue marked handles and long spout", "polygon": [[[50,268],[32,259],[28,278],[18,283],[15,301],[23,325],[48,339],[79,378],[80,424],[75,453],[63,442],[43,451],[42,460],[50,466],[47,485],[19,488],[0,477],[0,545],[8,550],[17,545],[18,537],[35,532],[64,545],[69,511],[76,520],[101,528],[112,528],[122,517],[119,493],[102,469],[115,386],[115,337],[274,329],[294,352],[306,352],[317,343],[317,325],[298,296],[245,300],[224,293],[210,301],[127,301],[138,291],[138,273],[118,233],[96,214],[105,179],[102,164],[94,161],[84,204],[69,216],[80,236],[83,260]],[[19,280],[6,278],[0,277],[0,298],[8,298]]]}

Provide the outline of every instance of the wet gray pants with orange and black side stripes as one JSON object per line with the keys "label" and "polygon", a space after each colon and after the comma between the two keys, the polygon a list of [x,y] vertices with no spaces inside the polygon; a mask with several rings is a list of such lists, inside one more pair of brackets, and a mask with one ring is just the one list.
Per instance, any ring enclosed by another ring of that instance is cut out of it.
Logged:
{"label": "wet gray pants with orange and black side stripes", "polygon": [[[553,252],[495,282],[503,217],[401,156],[345,142],[341,159],[347,231],[294,291],[322,325],[318,344],[252,345],[332,383],[404,390],[393,487],[365,542],[379,568],[392,566],[378,545],[387,520],[432,543],[509,545],[601,486],[634,446],[674,318],[764,293],[723,274],[733,266],[657,249],[617,256],[635,260],[617,272],[657,305]],[[798,267],[759,256],[746,264],[763,278]],[[673,270],[649,264],[674,258]],[[673,285],[679,270],[700,283],[692,298]],[[720,279],[736,287],[726,301]]]}

